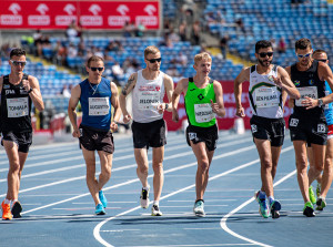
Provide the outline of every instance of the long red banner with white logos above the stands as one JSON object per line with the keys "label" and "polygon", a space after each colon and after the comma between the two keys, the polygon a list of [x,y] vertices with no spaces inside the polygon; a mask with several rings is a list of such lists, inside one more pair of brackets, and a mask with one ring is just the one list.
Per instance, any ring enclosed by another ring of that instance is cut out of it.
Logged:
{"label": "long red banner with white logos above the stands", "polygon": [[84,29],[121,30],[125,22],[160,29],[161,4],[150,1],[0,0],[0,29],[65,29],[75,20]]}

